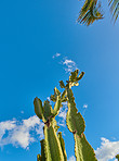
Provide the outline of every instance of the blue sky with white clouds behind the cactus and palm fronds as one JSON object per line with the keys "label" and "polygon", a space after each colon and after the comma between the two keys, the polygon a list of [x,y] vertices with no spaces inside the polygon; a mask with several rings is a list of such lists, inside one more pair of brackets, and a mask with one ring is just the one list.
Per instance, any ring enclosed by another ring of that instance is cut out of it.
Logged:
{"label": "blue sky with white clouds behind the cactus and palm fronds", "polygon": [[[103,21],[79,25],[81,4],[0,2],[0,161],[36,160],[43,124],[35,116],[34,99],[44,101],[76,67],[85,72],[74,94],[89,143],[100,161],[119,153],[119,22],[114,26],[103,2]],[[74,139],[64,126],[66,110],[64,104],[57,121],[71,161]]]}

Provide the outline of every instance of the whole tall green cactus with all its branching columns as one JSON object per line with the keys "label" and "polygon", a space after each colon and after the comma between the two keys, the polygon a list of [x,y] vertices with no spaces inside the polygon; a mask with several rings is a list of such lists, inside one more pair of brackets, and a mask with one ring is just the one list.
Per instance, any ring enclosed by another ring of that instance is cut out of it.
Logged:
{"label": "whole tall green cactus with all its branching columns", "polygon": [[61,88],[64,88],[62,94],[57,88],[54,88],[54,95],[51,95],[51,100],[55,102],[54,108],[51,107],[48,100],[42,106],[42,101],[37,97],[35,98],[35,112],[44,123],[44,139],[40,141],[41,154],[37,156],[38,161],[67,161],[65,143],[62,133],[57,133],[58,126],[55,121],[55,116],[58,114],[60,108],[62,108],[62,102],[65,101],[68,104],[66,124],[68,129],[74,134],[77,161],[96,161],[94,150],[83,134],[85,128],[84,120],[76,108],[71,90],[72,86],[79,85],[78,82],[84,75],[82,72],[78,76],[78,70],[71,72],[66,85],[63,81],[60,82]]}

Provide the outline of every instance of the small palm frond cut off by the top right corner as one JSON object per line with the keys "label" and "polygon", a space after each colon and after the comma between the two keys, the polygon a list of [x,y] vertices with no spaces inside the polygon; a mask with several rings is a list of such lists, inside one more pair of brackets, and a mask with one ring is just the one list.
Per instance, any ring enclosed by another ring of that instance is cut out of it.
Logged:
{"label": "small palm frond cut off by the top right corner", "polygon": [[110,12],[113,13],[114,22],[116,23],[119,14],[119,0],[110,0],[109,5],[110,5]]}

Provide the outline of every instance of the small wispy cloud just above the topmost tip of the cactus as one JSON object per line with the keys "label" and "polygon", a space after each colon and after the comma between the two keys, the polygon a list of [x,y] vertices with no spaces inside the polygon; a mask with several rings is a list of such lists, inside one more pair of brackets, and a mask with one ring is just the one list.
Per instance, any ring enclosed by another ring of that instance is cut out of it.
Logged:
{"label": "small wispy cloud just above the topmost tip of the cactus", "polygon": [[65,58],[65,61],[63,62],[63,65],[65,65],[65,71],[68,73],[75,71],[77,69],[76,63],[72,60],[69,60],[67,58]]}

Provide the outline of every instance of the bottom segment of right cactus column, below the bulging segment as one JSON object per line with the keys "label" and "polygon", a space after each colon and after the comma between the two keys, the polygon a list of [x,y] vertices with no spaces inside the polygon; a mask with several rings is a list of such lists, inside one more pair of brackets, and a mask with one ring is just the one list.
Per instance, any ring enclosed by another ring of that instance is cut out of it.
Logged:
{"label": "bottom segment of right cactus column, below the bulging segment", "polygon": [[82,134],[81,137],[79,137],[77,134],[74,134],[74,138],[77,161],[97,161],[94,150],[85,139],[84,134]]}

